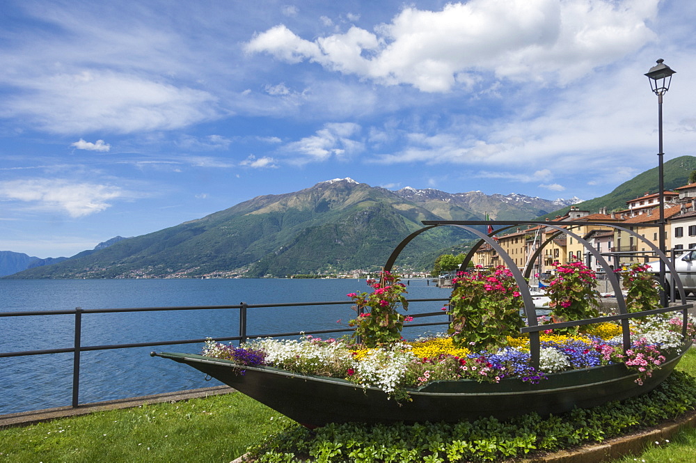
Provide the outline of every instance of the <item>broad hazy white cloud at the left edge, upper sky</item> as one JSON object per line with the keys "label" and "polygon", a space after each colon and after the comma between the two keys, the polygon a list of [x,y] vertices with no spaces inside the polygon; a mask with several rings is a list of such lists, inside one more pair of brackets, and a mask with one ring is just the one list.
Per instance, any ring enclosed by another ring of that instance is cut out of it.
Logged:
{"label": "broad hazy white cloud at the left edge, upper sky", "polygon": [[131,74],[83,71],[26,77],[0,116],[27,118],[49,132],[173,130],[217,117],[216,98]]}

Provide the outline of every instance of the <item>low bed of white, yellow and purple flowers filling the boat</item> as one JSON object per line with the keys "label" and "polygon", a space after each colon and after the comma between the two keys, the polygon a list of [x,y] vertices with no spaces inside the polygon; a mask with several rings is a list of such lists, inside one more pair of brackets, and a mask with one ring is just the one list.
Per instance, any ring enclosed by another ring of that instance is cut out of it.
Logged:
{"label": "low bed of white, yellow and purple flowers filling the boat", "polygon": [[[505,378],[517,378],[538,383],[551,373],[612,363],[624,363],[638,372],[636,382],[642,384],[655,368],[660,368],[666,354],[683,344],[679,315],[651,315],[644,320],[632,320],[633,343],[626,352],[622,349],[620,330],[603,325],[596,325],[594,333],[541,334],[538,369],[530,365],[528,336],[508,336],[505,347],[489,350],[459,347],[452,336],[445,335],[375,347],[358,345],[349,337],[266,338],[250,341],[244,347],[210,340],[203,354],[245,366],[266,365],[303,375],[338,377],[363,387],[377,387],[396,400],[408,400],[406,389],[434,381],[469,379],[498,383]],[[688,336],[694,336],[695,327],[694,320],[690,320]]]}

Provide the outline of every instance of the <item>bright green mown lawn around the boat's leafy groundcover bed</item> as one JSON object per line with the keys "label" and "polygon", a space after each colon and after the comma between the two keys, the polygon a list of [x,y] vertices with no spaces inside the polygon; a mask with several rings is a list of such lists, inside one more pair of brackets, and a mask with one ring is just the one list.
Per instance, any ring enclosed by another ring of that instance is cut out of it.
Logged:
{"label": "bright green mown lawn around the boat's leafy groundcover bed", "polygon": [[[695,350],[678,369],[696,376]],[[294,425],[245,395],[217,395],[0,429],[0,462],[228,463]],[[636,461],[696,461],[696,430],[614,463]]]}

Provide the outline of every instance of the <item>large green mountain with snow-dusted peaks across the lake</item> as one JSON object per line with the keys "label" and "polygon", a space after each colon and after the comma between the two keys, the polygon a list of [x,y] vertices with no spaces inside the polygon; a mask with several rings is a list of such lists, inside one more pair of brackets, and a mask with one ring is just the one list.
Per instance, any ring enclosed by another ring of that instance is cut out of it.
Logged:
{"label": "large green mountain with snow-dusted peaks across the lake", "polygon": [[[390,191],[350,178],[264,195],[147,235],[109,240],[9,278],[286,276],[375,270],[422,220],[532,219],[580,200],[521,194]],[[442,249],[470,238],[436,229],[414,240],[398,265],[425,269]],[[27,256],[28,257],[28,256]]]}

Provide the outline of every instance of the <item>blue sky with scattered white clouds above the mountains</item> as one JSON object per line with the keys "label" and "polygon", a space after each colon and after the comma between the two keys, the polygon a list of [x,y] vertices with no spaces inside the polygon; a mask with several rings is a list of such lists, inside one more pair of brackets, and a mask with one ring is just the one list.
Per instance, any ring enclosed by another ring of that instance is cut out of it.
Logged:
{"label": "blue sky with scattered white clouds above the mountains", "polygon": [[72,256],[262,194],[590,199],[695,155],[696,2],[33,1],[0,15],[0,250]]}

